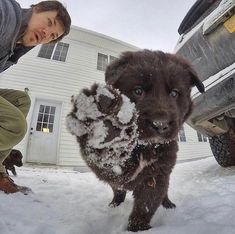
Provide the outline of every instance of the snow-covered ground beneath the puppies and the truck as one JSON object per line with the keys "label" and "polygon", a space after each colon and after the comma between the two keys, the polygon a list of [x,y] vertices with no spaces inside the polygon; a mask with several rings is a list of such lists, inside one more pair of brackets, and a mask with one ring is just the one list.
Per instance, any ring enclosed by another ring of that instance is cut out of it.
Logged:
{"label": "snow-covered ground beneath the puppies and the truck", "polygon": [[[14,180],[34,193],[0,192],[0,234],[124,234],[132,208],[129,193],[109,208],[111,189],[91,172],[17,168]],[[235,233],[235,168],[219,167],[213,158],[177,164],[170,198],[175,210],[158,209],[152,229],[142,234]]]}

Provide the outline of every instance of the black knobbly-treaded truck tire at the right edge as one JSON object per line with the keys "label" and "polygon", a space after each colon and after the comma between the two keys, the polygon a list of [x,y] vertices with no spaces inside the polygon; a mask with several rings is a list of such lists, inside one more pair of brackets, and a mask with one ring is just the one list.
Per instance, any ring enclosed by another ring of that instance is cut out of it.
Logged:
{"label": "black knobbly-treaded truck tire at the right edge", "polygon": [[235,166],[235,139],[228,133],[209,138],[212,153],[222,167]]}

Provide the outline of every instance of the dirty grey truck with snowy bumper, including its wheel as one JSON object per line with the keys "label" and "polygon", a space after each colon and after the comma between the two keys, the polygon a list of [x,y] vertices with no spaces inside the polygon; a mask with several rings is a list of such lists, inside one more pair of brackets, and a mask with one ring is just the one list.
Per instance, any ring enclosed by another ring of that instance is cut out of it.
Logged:
{"label": "dirty grey truck with snowy bumper, including its wheel", "polygon": [[235,166],[235,0],[197,0],[178,33],[175,53],[205,86],[203,94],[192,90],[187,123],[208,136],[220,166]]}

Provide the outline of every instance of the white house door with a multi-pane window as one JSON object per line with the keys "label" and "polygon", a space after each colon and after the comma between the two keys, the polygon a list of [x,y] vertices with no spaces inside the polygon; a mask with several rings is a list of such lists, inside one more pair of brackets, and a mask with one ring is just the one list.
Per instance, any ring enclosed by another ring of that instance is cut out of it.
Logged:
{"label": "white house door with a multi-pane window", "polygon": [[27,162],[57,163],[61,104],[36,100],[27,150]]}

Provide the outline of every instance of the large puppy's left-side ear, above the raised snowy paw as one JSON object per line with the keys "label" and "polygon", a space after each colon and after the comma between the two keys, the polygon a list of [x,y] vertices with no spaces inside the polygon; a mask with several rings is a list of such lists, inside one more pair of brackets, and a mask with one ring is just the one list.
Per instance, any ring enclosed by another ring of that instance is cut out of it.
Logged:
{"label": "large puppy's left-side ear, above the raised snowy paw", "polygon": [[105,71],[105,82],[114,85],[128,65],[128,61],[133,57],[132,52],[124,52],[119,59],[114,60]]}

